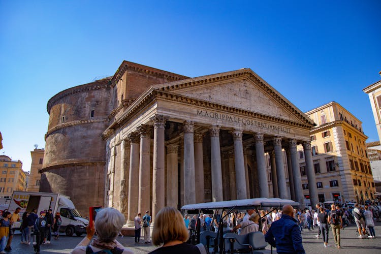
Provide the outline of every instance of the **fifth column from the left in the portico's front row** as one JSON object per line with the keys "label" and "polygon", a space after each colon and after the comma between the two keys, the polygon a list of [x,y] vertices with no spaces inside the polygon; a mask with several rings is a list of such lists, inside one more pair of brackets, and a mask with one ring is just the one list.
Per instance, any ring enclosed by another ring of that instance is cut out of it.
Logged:
{"label": "fifth column from the left in the portico's front row", "polygon": [[[267,178],[267,167],[266,167],[265,147],[263,145],[263,134],[256,133],[253,136],[256,142],[257,170],[258,170],[258,178],[259,178],[260,197],[269,198],[269,181]],[[273,165],[271,165],[271,174],[273,174],[272,166]]]}

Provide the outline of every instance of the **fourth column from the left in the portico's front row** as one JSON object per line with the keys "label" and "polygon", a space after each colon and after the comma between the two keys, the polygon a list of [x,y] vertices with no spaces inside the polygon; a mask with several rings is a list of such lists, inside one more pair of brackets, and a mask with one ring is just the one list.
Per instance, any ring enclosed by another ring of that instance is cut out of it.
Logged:
{"label": "fourth column from the left in the portico's front row", "polygon": [[246,174],[242,146],[243,133],[239,130],[234,130],[231,133],[234,140],[234,166],[236,170],[237,199],[247,199]]}

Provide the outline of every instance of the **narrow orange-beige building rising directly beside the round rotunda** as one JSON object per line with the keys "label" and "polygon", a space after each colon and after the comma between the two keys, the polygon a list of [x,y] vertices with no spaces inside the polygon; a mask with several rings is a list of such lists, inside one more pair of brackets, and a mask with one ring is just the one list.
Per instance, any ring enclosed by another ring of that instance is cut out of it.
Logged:
{"label": "narrow orange-beige building rising directly beside the round rotunda", "polygon": [[44,161],[44,149],[34,149],[30,151],[31,165],[28,181],[28,192],[39,192],[41,183],[40,169]]}

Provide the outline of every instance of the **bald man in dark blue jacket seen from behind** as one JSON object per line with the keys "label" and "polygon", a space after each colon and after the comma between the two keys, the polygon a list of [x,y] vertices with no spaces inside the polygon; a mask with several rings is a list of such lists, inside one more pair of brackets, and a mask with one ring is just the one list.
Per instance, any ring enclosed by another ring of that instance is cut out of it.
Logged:
{"label": "bald man in dark blue jacket seen from behind", "polygon": [[283,206],[282,217],[271,224],[265,240],[276,247],[277,253],[305,254],[302,233],[294,219],[294,209],[291,205]]}

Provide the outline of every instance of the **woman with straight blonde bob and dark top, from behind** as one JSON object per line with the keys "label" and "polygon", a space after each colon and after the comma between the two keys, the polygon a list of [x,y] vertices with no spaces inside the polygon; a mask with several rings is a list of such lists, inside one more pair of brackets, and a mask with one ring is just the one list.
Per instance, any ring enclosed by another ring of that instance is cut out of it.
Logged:
{"label": "woman with straight blonde bob and dark top, from behind", "polygon": [[186,243],[188,238],[188,230],[181,213],[173,207],[164,207],[156,214],[152,230],[152,243],[163,246],[149,253],[201,254],[202,248],[206,252],[203,245]]}

